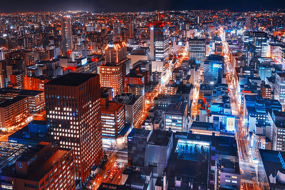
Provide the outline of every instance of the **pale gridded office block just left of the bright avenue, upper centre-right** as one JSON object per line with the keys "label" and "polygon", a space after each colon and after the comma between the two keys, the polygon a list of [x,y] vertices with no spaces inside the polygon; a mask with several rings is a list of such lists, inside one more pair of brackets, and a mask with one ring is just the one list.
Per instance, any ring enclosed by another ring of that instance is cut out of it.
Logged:
{"label": "pale gridded office block just left of the bright avenue, upper centre-right", "polygon": [[204,68],[206,59],[206,39],[189,39],[189,59],[195,58],[197,64]]}

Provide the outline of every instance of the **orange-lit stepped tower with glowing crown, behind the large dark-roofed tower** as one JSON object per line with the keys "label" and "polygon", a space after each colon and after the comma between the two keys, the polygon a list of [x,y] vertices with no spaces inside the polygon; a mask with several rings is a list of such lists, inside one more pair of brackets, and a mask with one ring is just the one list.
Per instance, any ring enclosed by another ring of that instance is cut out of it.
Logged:
{"label": "orange-lit stepped tower with glowing crown, behind the large dark-roofed tower", "polygon": [[127,58],[125,42],[109,44],[105,48],[105,63],[100,66],[101,87],[113,88],[113,95],[124,90],[124,77],[130,69],[130,59]]}

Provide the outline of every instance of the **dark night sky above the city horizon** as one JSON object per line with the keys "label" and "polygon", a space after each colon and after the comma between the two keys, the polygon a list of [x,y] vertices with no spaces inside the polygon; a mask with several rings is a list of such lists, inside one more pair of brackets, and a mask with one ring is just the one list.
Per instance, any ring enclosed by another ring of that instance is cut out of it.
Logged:
{"label": "dark night sky above the city horizon", "polygon": [[1,13],[86,10],[136,12],[154,10],[254,11],[285,9],[285,0],[0,0]]}

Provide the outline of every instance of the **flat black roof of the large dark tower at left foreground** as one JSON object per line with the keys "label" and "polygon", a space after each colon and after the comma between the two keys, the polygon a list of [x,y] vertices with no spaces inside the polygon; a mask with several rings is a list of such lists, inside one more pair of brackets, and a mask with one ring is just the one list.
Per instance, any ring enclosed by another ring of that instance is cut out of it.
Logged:
{"label": "flat black roof of the large dark tower at left foreground", "polygon": [[50,82],[47,82],[47,85],[59,85],[59,86],[80,86],[89,79],[96,77],[98,74],[90,73],[79,73],[79,72],[70,72],[65,74],[57,79],[54,79]]}

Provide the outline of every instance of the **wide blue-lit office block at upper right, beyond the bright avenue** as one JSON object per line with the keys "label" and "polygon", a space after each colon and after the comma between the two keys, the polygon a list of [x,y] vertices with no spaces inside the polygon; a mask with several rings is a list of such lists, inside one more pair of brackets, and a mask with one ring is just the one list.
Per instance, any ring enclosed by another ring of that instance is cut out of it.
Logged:
{"label": "wide blue-lit office block at upper right, beyond the bright avenue", "polygon": [[243,51],[256,52],[258,57],[266,57],[267,33],[262,31],[245,31]]}

